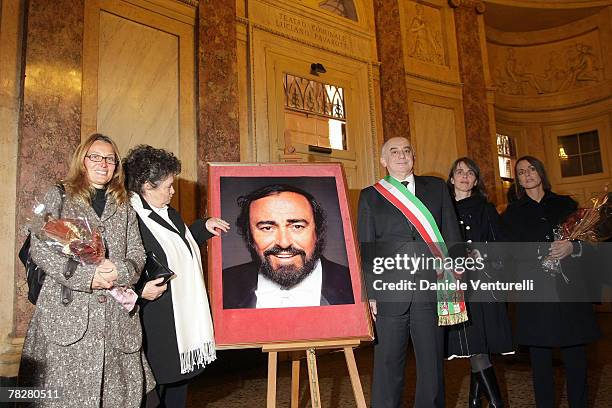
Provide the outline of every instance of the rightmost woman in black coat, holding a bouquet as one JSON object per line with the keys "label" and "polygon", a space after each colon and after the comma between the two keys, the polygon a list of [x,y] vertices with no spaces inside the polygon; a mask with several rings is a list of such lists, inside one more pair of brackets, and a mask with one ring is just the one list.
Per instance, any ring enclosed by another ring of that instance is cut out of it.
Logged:
{"label": "rightmost woman in black coat, holding a bouquet", "polygon": [[[555,347],[560,347],[565,363],[570,408],[586,407],[585,344],[596,340],[600,332],[590,303],[564,301],[564,294],[575,294],[580,289],[581,279],[572,272],[577,269],[582,246],[555,240],[553,232],[577,209],[577,203],[551,191],[544,165],[535,157],[521,157],[516,162],[515,174],[518,200],[508,205],[502,219],[512,241],[532,243],[520,251],[517,271],[531,274],[535,279],[535,295],[539,299],[548,297],[552,291],[561,300],[518,302],[516,340],[529,348],[538,408],[554,406],[552,353]],[[560,260],[563,273],[544,269],[542,261],[546,256]]]}

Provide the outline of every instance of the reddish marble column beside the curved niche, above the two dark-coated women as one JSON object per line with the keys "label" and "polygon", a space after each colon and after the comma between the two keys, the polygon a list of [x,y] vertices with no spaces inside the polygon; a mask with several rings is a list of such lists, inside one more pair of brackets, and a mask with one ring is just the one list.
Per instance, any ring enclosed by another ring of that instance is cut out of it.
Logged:
{"label": "reddish marble column beside the curved niche, above the two dark-coated women", "polygon": [[481,179],[487,191],[495,193],[494,139],[492,118],[487,106],[485,67],[483,64],[482,14],[485,4],[474,0],[450,0],[454,8],[459,72],[463,83],[463,111],[466,126],[468,156],[481,169]]}

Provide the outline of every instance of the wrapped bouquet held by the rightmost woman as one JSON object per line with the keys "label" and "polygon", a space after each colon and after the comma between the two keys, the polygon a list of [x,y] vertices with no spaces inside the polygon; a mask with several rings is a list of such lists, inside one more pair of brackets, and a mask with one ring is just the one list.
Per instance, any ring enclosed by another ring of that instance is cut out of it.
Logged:
{"label": "wrapped bouquet held by the rightmost woman", "polygon": [[[592,199],[591,208],[580,208],[571,214],[565,222],[553,230],[555,240],[601,242],[612,236],[612,203],[610,195],[604,191]],[[547,256],[542,260],[542,267],[551,275],[561,275],[569,282],[561,270],[561,262],[557,258]]]}

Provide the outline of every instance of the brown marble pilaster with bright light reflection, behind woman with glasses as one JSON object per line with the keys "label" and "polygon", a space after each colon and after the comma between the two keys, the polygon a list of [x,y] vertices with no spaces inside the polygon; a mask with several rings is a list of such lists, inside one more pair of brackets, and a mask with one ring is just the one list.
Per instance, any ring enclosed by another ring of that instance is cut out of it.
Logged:
{"label": "brown marble pilaster with bright light reflection, behind woman with glasses", "polygon": [[[21,243],[36,197],[68,171],[78,146],[84,0],[31,0],[26,28],[25,85],[17,180],[17,231]],[[24,269],[15,270],[15,333],[25,334],[33,307]]]}

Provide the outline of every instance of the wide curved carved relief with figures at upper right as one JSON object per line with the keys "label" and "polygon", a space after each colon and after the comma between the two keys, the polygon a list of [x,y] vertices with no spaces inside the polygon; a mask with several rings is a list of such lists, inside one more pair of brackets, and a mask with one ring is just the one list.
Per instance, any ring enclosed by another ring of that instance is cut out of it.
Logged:
{"label": "wide curved carved relief with figures at upper right", "polygon": [[510,33],[487,28],[496,104],[540,111],[608,97],[610,32],[610,19],[603,12],[540,31]]}

